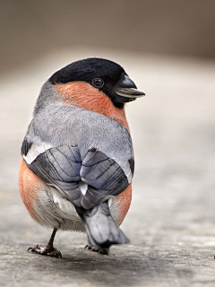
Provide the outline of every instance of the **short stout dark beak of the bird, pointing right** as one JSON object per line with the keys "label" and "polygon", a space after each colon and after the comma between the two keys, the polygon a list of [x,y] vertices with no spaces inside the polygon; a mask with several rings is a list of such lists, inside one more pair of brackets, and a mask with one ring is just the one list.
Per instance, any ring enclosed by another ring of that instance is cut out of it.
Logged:
{"label": "short stout dark beak of the bird, pointing right", "polygon": [[135,83],[127,75],[117,83],[115,92],[116,101],[121,103],[136,100],[145,95],[144,92],[137,90]]}

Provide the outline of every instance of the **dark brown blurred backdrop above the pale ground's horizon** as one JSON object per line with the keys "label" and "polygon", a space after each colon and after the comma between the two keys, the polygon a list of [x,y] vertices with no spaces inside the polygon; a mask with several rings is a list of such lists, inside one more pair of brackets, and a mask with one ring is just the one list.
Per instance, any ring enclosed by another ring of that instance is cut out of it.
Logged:
{"label": "dark brown blurred backdrop above the pale ground's horizon", "polygon": [[213,0],[0,1],[1,73],[79,46],[215,57]]}

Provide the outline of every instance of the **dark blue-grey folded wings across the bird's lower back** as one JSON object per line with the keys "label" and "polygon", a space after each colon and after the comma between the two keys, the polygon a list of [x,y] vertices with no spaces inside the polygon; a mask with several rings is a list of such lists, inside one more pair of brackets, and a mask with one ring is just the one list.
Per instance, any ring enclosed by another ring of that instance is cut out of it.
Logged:
{"label": "dark blue-grey folded wings across the bird's lower back", "polygon": [[[52,147],[29,163],[30,170],[39,178],[59,189],[75,206],[86,210],[106,200],[107,196],[118,195],[130,184],[133,159],[122,161],[122,165],[124,170],[96,148],[91,148],[81,158],[76,145]],[[85,194],[80,188],[81,182],[87,185]]]}

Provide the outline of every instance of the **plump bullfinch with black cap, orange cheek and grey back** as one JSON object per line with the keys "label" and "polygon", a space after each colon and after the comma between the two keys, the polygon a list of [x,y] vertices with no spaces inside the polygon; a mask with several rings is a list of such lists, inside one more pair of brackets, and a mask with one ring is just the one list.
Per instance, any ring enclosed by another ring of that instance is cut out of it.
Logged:
{"label": "plump bullfinch with black cap, orange cheek and grey back", "polygon": [[125,104],[144,95],[121,65],[99,57],[66,65],[43,84],[22,142],[19,189],[32,219],[53,232],[29,252],[62,257],[57,230],[86,232],[86,248],[101,254],[129,243],[119,228],[134,171]]}

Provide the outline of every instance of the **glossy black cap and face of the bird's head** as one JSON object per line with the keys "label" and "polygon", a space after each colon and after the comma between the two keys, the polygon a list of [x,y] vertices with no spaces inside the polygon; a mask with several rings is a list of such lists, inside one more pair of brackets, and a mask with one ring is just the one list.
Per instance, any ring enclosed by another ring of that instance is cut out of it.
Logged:
{"label": "glossy black cap and face of the bird's head", "polygon": [[[53,74],[48,81],[53,84],[76,81],[90,83],[103,91],[117,108],[122,109],[125,102],[135,100],[135,98],[119,96],[116,93],[116,88],[120,87],[120,83],[125,82],[125,77],[129,79],[121,65],[107,59],[90,57],[64,66]],[[136,89],[132,80],[126,87]]]}

